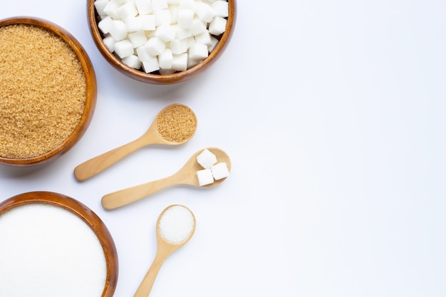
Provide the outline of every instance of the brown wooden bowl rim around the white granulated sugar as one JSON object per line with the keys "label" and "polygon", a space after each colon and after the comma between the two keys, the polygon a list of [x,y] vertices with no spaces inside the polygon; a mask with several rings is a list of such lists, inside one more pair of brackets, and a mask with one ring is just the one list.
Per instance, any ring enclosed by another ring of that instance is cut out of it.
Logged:
{"label": "brown wooden bowl rim around the white granulated sugar", "polygon": [[[78,202],[77,200],[63,194],[53,192],[28,192],[6,199],[4,202],[0,203],[0,218],[2,214],[6,214],[6,212],[9,212],[11,209],[29,204],[49,204],[54,207],[65,209],[68,212],[75,214],[78,218],[85,222],[90,229],[93,230],[103,248],[107,273],[103,292],[98,297],[112,297],[118,281],[118,254],[112,236],[100,218],[81,202]],[[66,230],[68,233],[71,231],[72,230]],[[20,236],[20,234],[18,234],[18,236]],[[76,236],[74,236],[74,238],[76,238]],[[68,257],[70,257],[70,255],[67,255],[67,258]],[[18,261],[17,263],[21,262]],[[26,263],[25,265],[29,269],[29,265],[31,264]],[[26,267],[24,267],[24,269],[26,269]],[[42,267],[42,269],[44,269],[44,267]],[[48,280],[48,285],[51,285],[51,281],[52,280]],[[53,285],[58,284],[53,283]]]}

